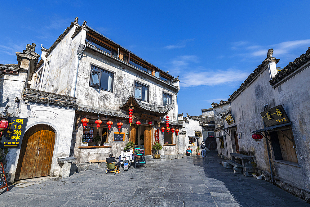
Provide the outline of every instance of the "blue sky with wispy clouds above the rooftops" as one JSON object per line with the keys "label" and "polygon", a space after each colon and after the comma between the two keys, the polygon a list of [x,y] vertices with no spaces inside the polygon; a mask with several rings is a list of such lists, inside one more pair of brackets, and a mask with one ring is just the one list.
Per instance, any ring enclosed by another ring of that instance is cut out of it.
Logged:
{"label": "blue sky with wispy clouds above the rooftops", "polygon": [[49,48],[78,16],[181,80],[179,113],[227,100],[266,58],[285,67],[310,47],[309,1],[2,1],[0,64]]}

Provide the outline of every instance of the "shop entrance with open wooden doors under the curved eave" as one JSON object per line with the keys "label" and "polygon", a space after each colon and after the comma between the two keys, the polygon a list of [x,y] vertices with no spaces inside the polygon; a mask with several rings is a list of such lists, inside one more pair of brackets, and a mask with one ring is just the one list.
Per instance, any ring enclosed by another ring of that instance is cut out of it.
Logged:
{"label": "shop entrance with open wooden doors under the curved eave", "polygon": [[131,124],[130,141],[135,145],[144,145],[145,155],[152,154],[152,127]]}

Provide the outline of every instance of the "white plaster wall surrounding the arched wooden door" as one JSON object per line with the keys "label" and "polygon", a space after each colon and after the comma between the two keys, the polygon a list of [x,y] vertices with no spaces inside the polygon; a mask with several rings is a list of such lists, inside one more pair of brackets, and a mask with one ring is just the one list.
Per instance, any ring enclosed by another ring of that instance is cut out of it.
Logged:
{"label": "white plaster wall surrounding the arched wooden door", "polygon": [[[46,124],[54,129],[56,137],[50,176],[59,176],[60,166],[57,163],[57,157],[69,156],[75,108],[47,106],[44,104],[34,105],[32,103],[26,105],[23,103],[20,106],[20,110],[21,113],[19,117],[28,119],[26,131],[37,124]],[[52,119],[51,117],[35,118],[33,111],[38,110],[48,110],[56,113],[57,116],[55,119]],[[19,154],[20,149],[9,148],[9,154],[7,155],[7,168],[5,171],[9,173],[10,182],[14,182]]]}

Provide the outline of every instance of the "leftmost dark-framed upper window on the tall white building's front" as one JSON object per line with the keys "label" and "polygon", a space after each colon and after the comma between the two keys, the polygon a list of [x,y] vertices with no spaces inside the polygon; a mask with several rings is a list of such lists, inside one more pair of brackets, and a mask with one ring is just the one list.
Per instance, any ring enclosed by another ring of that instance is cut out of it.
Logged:
{"label": "leftmost dark-framed upper window on the tall white building's front", "polygon": [[113,92],[113,76],[113,73],[92,65],[89,86]]}

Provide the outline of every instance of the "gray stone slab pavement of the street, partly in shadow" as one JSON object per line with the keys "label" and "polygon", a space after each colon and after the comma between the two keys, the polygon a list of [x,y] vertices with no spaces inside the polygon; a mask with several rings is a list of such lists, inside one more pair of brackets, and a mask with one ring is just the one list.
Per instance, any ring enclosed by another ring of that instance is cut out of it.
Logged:
{"label": "gray stone slab pavement of the street, partly in shadow", "polygon": [[[216,153],[131,167],[119,174],[105,169],[68,178],[36,178],[30,186],[0,190],[2,206],[309,206],[286,191],[253,177],[233,174]],[[24,184],[24,185],[29,185]]]}

